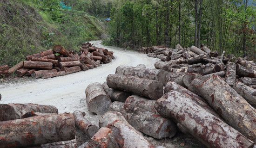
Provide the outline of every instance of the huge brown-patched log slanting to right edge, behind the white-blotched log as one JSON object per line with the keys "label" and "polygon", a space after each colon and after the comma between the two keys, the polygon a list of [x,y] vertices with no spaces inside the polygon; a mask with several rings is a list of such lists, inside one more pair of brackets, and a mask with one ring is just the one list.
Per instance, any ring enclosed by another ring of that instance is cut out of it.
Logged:
{"label": "huge brown-patched log slanting to right edge, behind the white-blotched log", "polygon": [[194,87],[230,126],[256,141],[256,109],[224,80],[213,76]]}

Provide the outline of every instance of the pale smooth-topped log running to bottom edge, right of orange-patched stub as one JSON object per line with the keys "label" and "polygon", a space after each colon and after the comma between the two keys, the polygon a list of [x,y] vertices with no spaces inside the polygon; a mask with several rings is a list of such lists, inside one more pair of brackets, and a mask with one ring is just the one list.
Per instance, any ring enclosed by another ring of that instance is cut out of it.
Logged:
{"label": "pale smooth-topped log running to bottom edge, right of orange-patched stub", "polygon": [[120,148],[155,148],[125,120],[120,112],[106,112],[101,116],[99,126],[106,126],[114,132],[115,141]]}

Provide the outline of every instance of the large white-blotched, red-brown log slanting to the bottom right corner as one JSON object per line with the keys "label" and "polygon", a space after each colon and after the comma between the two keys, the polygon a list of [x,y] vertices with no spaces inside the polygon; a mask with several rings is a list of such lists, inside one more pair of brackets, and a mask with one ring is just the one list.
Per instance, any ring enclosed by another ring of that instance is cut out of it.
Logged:
{"label": "large white-blotched, red-brown log slanting to the bottom right corner", "polygon": [[253,148],[254,146],[254,142],[236,129],[177,91],[167,93],[166,100],[156,101],[155,108],[162,116],[175,119],[207,147]]}

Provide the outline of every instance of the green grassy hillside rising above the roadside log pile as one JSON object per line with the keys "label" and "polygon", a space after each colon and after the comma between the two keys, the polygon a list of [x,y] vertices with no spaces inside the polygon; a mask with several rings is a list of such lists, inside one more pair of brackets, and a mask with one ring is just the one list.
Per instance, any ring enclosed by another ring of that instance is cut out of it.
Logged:
{"label": "green grassy hillside rising above the roadside log pile", "polygon": [[86,12],[40,8],[35,0],[0,0],[0,66],[9,67],[61,44],[78,50],[81,42],[100,39],[104,25]]}

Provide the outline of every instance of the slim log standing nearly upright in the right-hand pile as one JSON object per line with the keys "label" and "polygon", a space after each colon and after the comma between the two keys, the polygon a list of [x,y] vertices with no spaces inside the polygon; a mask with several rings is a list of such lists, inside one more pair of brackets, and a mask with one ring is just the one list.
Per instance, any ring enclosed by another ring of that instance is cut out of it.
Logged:
{"label": "slim log standing nearly upright in the right-hand pile", "polygon": [[225,81],[229,86],[233,87],[236,83],[236,64],[234,62],[228,62],[226,69]]}

